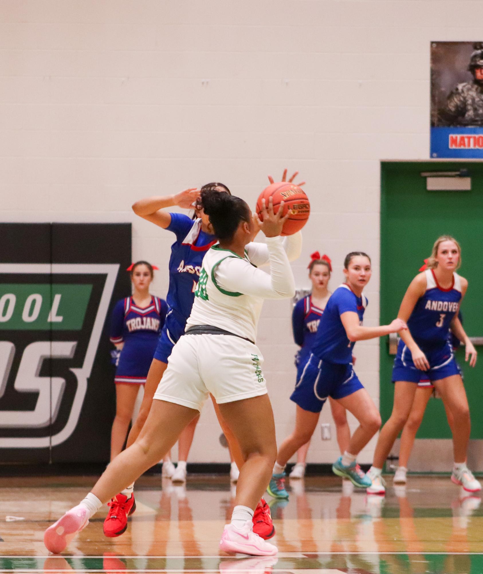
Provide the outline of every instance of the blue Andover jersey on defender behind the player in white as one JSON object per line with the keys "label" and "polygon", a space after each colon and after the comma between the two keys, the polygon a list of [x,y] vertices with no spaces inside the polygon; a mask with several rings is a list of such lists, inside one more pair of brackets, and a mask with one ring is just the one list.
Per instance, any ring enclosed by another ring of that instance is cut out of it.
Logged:
{"label": "blue Andover jersey on defender behind the player in white", "polygon": [[184,214],[170,215],[167,230],[176,235],[176,241],[171,246],[166,300],[170,311],[186,323],[193,307],[203,257],[217,239],[201,230],[201,219],[192,220]]}

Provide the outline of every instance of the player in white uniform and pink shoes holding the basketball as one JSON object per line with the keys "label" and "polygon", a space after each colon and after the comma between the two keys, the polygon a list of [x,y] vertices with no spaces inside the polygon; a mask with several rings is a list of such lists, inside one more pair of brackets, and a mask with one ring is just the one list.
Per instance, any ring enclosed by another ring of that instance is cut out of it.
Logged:
{"label": "player in white uniform and pink shoes holding the basketball", "polygon": [[[62,552],[105,502],[168,452],[209,393],[229,421],[245,459],[220,548],[257,556],[277,552],[252,530],[253,510],[269,483],[277,453],[263,357],[255,339],[264,298],[289,298],[295,292],[280,238],[287,216],[281,217],[282,204],[274,215],[270,199],[263,222],[255,216],[266,245],[250,243],[256,223],[245,201],[217,192],[202,193],[201,200],[219,245],[203,259],[186,333],[173,348],[136,442],[109,464],[79,505],[46,530],[44,542],[51,552]],[[300,253],[300,234],[288,239],[288,249]],[[257,269],[266,262],[270,274]]]}

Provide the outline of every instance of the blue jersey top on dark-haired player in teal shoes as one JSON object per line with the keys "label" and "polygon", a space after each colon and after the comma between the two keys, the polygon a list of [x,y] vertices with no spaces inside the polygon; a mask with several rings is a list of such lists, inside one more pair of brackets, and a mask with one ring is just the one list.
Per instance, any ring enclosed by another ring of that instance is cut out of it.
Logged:
{"label": "blue jersey top on dark-haired player in teal shoes", "polygon": [[330,363],[352,363],[355,342],[347,338],[340,316],[347,311],[353,311],[358,314],[359,324],[362,325],[366,307],[367,298],[364,295],[356,296],[345,283],[337,287],[325,305],[312,353]]}

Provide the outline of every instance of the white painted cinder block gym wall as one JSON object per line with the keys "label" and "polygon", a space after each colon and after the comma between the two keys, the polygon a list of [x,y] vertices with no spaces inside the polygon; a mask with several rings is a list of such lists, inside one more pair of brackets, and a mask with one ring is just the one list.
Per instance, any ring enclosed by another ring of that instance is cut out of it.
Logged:
{"label": "white painted cinder block gym wall", "polygon": [[[478,0],[2,0],[0,218],[132,222],[164,296],[172,236],[133,201],[218,180],[254,205],[267,174],[298,169],[312,215],[297,286],[313,250],[333,259],[332,288],[366,250],[375,325],[379,160],[429,157],[430,41],[481,40],[482,17]],[[290,312],[267,302],[259,329],[278,441],[294,422]],[[356,346],[376,402],[378,353]],[[207,405],[191,460],[227,460],[218,435]],[[317,431],[309,461],[336,455]]]}

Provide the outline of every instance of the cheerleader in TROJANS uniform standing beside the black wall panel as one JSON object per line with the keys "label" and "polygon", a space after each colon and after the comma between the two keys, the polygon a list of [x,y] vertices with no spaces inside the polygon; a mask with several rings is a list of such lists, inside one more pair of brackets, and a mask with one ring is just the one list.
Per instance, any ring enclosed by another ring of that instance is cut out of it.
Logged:
{"label": "cheerleader in TROJANS uniform standing beside the black wall panel", "polygon": [[129,267],[133,293],[112,311],[111,343],[120,350],[116,376],[116,416],[111,430],[111,460],[123,449],[139,385],[146,383],[152,355],[166,319],[164,299],[149,292],[154,267],[138,261]]}

